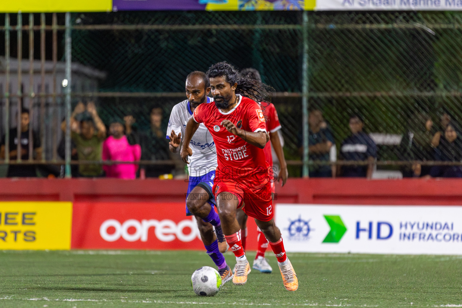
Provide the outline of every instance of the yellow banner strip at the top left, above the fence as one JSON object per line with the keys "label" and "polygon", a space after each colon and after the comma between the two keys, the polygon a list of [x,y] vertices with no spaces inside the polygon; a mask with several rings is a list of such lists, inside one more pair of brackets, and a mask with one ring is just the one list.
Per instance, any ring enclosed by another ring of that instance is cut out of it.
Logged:
{"label": "yellow banner strip at the top left, above the fence", "polygon": [[1,0],[0,12],[110,12],[112,0]]}

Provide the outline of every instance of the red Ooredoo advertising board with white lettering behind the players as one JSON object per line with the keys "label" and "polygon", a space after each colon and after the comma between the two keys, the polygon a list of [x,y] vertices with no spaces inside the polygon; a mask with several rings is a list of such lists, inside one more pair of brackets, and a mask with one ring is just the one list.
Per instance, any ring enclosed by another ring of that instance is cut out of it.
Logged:
{"label": "red Ooredoo advertising board with white lettering behind the players", "polygon": [[[248,249],[256,249],[256,224],[248,221]],[[73,249],[204,250],[194,216],[184,202],[74,202]]]}

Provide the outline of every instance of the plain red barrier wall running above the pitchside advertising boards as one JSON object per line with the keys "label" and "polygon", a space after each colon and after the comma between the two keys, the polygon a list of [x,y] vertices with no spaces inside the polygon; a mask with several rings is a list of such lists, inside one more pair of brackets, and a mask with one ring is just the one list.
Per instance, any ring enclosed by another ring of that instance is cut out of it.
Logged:
{"label": "plain red barrier wall running above the pitchside advertising boards", "polygon": [[[187,187],[158,179],[0,179],[0,200],[184,202]],[[462,205],[462,180],[289,179],[276,193],[276,203]]]}

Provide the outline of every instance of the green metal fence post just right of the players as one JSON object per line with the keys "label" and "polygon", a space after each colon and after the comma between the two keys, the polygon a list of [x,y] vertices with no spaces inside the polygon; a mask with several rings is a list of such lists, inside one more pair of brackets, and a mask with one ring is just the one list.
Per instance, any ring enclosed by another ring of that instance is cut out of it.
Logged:
{"label": "green metal fence post just right of the players", "polygon": [[308,12],[303,12],[303,63],[302,63],[302,129],[303,177],[308,177]]}

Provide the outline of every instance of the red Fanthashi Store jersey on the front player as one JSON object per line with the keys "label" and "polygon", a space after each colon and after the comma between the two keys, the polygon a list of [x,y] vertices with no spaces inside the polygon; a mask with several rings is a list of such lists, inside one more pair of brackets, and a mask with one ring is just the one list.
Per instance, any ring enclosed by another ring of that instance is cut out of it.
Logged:
{"label": "red Fanthashi Store jersey on the front player", "polygon": [[204,123],[215,142],[218,158],[216,181],[226,181],[228,178],[255,189],[269,181],[269,166],[263,149],[232,135],[221,122],[229,120],[247,132],[265,133],[266,122],[258,103],[250,98],[237,96],[239,101],[230,111],[225,113],[212,103],[200,104],[194,110],[193,118],[198,123]]}

